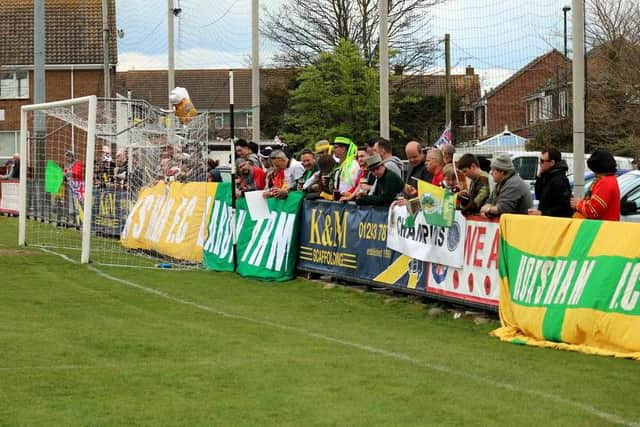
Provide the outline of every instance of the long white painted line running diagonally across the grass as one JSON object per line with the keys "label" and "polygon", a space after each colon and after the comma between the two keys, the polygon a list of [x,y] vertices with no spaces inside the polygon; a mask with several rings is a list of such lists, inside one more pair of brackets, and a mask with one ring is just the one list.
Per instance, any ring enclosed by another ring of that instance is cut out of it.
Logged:
{"label": "long white painted line running diagonally across the grass", "polygon": [[[62,258],[64,258],[65,260],[74,263],[74,264],[78,264],[77,261],[62,255],[62,254],[58,254],[56,252],[52,252],[52,251],[48,251],[46,249],[43,249],[45,252],[54,254],[54,255],[58,255]],[[178,298],[178,297],[174,297],[166,292],[163,291],[159,291],[157,289],[154,288],[148,288],[146,286],[134,283],[130,280],[125,280],[125,279],[120,279],[118,277],[112,276],[108,273],[105,273],[104,271],[98,270],[97,268],[93,267],[93,266],[87,266],[87,268],[93,272],[95,272],[96,274],[98,274],[99,276],[110,280],[112,282],[116,282],[116,283],[120,283],[135,289],[138,289],[140,291],[143,291],[145,293],[148,294],[152,294],[155,296],[158,296],[160,298],[164,298],[166,300],[169,301],[173,301],[175,303],[178,304],[183,304],[183,305],[187,305],[187,306],[191,306],[194,308],[197,308],[199,310],[202,311],[206,311],[212,314],[216,314],[218,316],[221,317],[226,317],[226,318],[230,318],[230,319],[236,319],[236,320],[242,320],[245,322],[249,322],[249,323],[254,323],[254,324],[258,324],[258,325],[264,325],[264,326],[269,326],[272,327],[274,329],[280,329],[283,331],[291,331],[291,332],[295,332],[310,338],[316,338],[322,341],[327,341],[327,342],[331,342],[331,343],[335,343],[335,344],[340,344],[342,346],[345,347],[351,347],[351,348],[357,348],[358,350],[362,350],[368,353],[372,353],[372,354],[377,354],[380,356],[384,356],[390,359],[396,359],[396,360],[401,360],[403,362],[407,362],[407,363],[411,363],[412,365],[416,365],[418,367],[421,368],[427,368],[430,369],[432,371],[437,371],[437,372],[442,372],[445,373],[447,375],[455,375],[458,377],[462,377],[462,378],[466,378],[468,380],[472,380],[481,384],[488,384],[491,385],[493,387],[496,388],[502,388],[504,390],[508,390],[508,391],[513,391],[513,392],[517,392],[517,393],[522,393],[522,394],[526,394],[529,396],[534,396],[534,397],[538,397],[544,400],[548,400],[550,402],[553,403],[557,403],[560,405],[569,405],[569,406],[573,406],[574,408],[580,409],[588,414],[594,415],[596,417],[602,418],[603,420],[606,420],[608,422],[611,423],[615,423],[615,424],[620,424],[620,425],[625,425],[625,426],[632,426],[632,427],[640,427],[640,422],[638,421],[633,421],[633,420],[627,420],[626,418],[611,413],[611,412],[606,412],[606,411],[601,411],[591,405],[588,405],[586,403],[582,403],[582,402],[576,402],[574,400],[570,400],[570,399],[565,399],[561,396],[557,396],[555,394],[551,394],[551,393],[545,393],[543,391],[538,391],[538,390],[532,390],[529,388],[525,388],[525,387],[520,387],[514,384],[510,384],[507,382],[503,382],[503,381],[498,381],[498,380],[494,380],[491,378],[487,378],[487,377],[482,377],[480,375],[476,375],[470,372],[465,372],[461,369],[454,369],[454,368],[449,368],[447,366],[444,365],[440,365],[440,364],[436,364],[436,363],[431,363],[431,362],[425,362],[425,361],[421,361],[418,360],[414,357],[408,356],[406,354],[402,354],[402,353],[396,353],[396,352],[392,352],[392,351],[387,351],[381,348],[377,348],[377,347],[372,347],[366,344],[360,344],[360,343],[355,343],[355,342],[351,342],[351,341],[347,341],[347,340],[343,340],[340,338],[335,338],[335,337],[331,337],[328,335],[323,335],[323,334],[319,334],[316,332],[311,332],[309,330],[303,329],[303,328],[299,328],[296,326],[288,326],[288,325],[282,325],[280,323],[275,323],[275,322],[271,322],[269,320],[263,320],[263,319],[255,319],[252,317],[248,317],[248,316],[243,316],[243,315],[239,315],[239,314],[233,314],[233,313],[227,313],[225,311],[221,311],[221,310],[216,310],[214,308],[211,308],[209,306],[203,305],[203,304],[199,304],[197,302],[193,302],[193,301],[189,301],[189,300],[185,300],[182,298]]]}

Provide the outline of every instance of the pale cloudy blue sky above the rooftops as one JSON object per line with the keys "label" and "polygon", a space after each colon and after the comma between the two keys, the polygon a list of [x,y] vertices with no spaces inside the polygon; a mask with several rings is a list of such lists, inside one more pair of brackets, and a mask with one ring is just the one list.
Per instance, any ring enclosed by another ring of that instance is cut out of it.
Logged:
{"label": "pale cloudy blue sky above the rooftops", "polygon": [[[234,68],[251,64],[251,0],[173,0],[177,69]],[[298,0],[261,0],[273,10]],[[158,5],[161,3],[161,6]],[[497,86],[535,57],[563,49],[562,7],[568,0],[447,0],[429,9],[414,37],[451,35],[452,68],[467,65],[480,75],[483,90]],[[163,0],[116,0],[118,70],[167,67],[168,4]],[[264,13],[261,12],[261,17]],[[568,14],[569,37],[571,13]],[[569,41],[569,46],[571,42]],[[277,46],[260,40],[262,66]],[[443,72],[444,57],[434,65]]]}

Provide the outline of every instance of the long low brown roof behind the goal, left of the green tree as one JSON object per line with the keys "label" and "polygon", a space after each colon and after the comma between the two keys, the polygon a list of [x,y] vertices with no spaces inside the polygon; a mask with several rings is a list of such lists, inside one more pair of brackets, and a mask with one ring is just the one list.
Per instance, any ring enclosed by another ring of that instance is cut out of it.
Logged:
{"label": "long low brown roof behind the goal, left of the green tree", "polygon": [[[229,69],[176,70],[176,86],[189,92],[191,102],[200,110],[227,110],[229,108]],[[280,87],[298,73],[294,68],[263,68],[260,87]],[[234,107],[251,107],[251,70],[233,70]],[[132,91],[134,98],[143,98],[153,105],[164,107],[168,103],[167,70],[123,71],[116,73],[116,91],[125,95]]]}

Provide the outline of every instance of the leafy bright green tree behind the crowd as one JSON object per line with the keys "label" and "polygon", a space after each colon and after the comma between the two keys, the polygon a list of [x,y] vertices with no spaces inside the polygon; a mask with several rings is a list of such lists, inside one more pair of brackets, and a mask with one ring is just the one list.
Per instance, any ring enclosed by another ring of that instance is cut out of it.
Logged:
{"label": "leafy bright green tree behind the crowd", "polygon": [[377,70],[343,40],[335,52],[322,53],[316,65],[303,68],[291,92],[284,137],[307,146],[337,135],[363,143],[378,134],[378,105]]}

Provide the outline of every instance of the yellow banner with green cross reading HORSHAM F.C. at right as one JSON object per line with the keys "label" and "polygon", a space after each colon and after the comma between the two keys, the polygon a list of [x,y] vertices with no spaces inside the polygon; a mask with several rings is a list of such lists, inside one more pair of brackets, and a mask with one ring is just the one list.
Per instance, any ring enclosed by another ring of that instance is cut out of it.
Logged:
{"label": "yellow banner with green cross reading HORSHAM F.C. at right", "polygon": [[503,341],[640,360],[640,226],[503,215]]}

